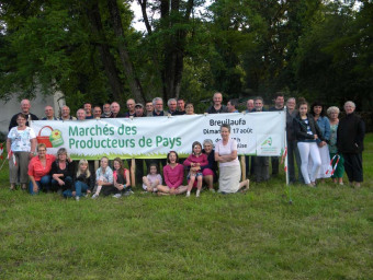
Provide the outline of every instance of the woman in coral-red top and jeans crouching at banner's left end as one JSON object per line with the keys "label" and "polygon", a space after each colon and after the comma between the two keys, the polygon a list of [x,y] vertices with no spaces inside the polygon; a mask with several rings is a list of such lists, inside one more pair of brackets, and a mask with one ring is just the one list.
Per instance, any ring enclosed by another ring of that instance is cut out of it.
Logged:
{"label": "woman in coral-red top and jeans crouching at banner's left end", "polygon": [[39,143],[37,145],[37,156],[34,156],[29,164],[29,190],[31,195],[37,194],[39,190],[49,190],[50,187],[50,168],[52,163],[56,161],[56,156],[46,153],[46,145]]}

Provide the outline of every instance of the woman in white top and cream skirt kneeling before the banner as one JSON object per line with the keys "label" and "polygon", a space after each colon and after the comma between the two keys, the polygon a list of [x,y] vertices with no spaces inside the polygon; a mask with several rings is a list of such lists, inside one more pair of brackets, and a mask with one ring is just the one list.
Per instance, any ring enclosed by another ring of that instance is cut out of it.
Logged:
{"label": "woman in white top and cream skirt kneeling before the banner", "polygon": [[230,126],[221,126],[222,140],[215,145],[215,161],[219,162],[219,192],[233,194],[249,189],[249,179],[239,182],[241,166],[237,155],[237,141],[230,138]]}

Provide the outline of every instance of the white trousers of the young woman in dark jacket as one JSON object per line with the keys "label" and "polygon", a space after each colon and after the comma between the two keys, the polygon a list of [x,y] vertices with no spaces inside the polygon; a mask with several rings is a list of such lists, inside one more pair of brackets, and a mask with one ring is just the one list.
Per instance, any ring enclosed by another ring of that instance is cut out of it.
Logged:
{"label": "white trousers of the young woman in dark jacket", "polygon": [[[309,184],[315,182],[318,171],[321,166],[320,153],[316,142],[298,142],[298,150],[301,155],[301,170],[304,178],[304,183]],[[310,174],[308,175],[308,156],[313,161],[313,166],[310,168]]]}

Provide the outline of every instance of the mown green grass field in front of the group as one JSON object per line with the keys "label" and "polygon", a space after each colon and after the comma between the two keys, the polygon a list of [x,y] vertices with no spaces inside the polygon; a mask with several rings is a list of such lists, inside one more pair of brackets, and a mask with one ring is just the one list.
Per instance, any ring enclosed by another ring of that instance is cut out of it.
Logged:
{"label": "mown green grass field in front of the group", "polygon": [[32,197],[5,167],[0,279],[372,279],[373,135],[363,156],[359,189],[290,189],[282,174],[199,199]]}

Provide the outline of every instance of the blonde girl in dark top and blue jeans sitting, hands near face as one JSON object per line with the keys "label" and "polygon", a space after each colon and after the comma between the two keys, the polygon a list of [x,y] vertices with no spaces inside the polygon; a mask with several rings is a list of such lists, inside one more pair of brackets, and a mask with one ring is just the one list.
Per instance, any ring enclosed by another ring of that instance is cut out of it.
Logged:
{"label": "blonde girl in dark top and blue jeans sitting, hands near face", "polygon": [[83,192],[88,195],[92,191],[94,187],[94,178],[88,168],[87,160],[79,161],[78,172],[74,180],[75,184],[72,185],[71,189],[64,191],[64,197],[75,197],[75,199],[79,201]]}

